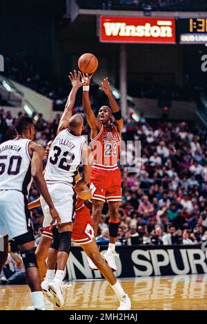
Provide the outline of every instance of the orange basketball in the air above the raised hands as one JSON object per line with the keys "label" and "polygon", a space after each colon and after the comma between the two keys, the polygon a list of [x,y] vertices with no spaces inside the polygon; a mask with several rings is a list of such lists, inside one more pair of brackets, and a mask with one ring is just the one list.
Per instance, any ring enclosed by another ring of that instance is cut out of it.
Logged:
{"label": "orange basketball in the air above the raised hands", "polygon": [[83,73],[95,73],[99,66],[99,61],[97,60],[97,57],[95,57],[95,55],[86,53],[79,57],[78,66]]}

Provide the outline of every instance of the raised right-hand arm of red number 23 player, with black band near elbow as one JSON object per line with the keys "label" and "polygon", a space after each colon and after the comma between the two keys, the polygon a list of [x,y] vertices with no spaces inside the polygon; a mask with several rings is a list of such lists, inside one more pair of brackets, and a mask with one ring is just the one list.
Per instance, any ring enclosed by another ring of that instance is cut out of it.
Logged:
{"label": "raised right-hand arm of red number 23 player, with black band near elbow", "polygon": [[119,133],[121,133],[124,127],[124,119],[121,116],[121,109],[117,104],[117,100],[113,96],[112,91],[110,89],[110,82],[108,82],[108,78],[105,78],[103,82],[101,82],[101,87],[99,89],[105,92],[106,96],[108,96],[108,100],[110,102],[110,108],[115,117],[115,125],[117,126]]}

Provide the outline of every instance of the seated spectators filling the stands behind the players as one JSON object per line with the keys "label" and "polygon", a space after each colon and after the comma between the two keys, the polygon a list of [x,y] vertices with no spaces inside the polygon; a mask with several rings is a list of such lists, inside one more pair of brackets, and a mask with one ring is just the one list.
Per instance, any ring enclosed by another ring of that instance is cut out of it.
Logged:
{"label": "seated spectators filling the stands behind the players", "polygon": [[[19,113],[19,116],[21,113]],[[43,146],[55,138],[60,115],[48,122],[39,114],[35,141]],[[14,120],[0,110],[0,138],[14,136]],[[89,129],[85,129],[85,134]],[[141,141],[141,161],[133,173],[121,165],[123,197],[118,244],[201,244],[207,240],[206,129],[158,121],[133,114],[125,121],[124,141]],[[30,201],[38,197],[30,191]],[[103,208],[99,244],[107,244],[108,207]],[[42,233],[41,208],[32,210],[37,242]]]}

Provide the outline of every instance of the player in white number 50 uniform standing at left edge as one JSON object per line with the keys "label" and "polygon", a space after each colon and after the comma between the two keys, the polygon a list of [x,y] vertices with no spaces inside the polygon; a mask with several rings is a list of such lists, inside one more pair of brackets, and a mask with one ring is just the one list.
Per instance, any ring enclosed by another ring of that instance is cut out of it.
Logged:
{"label": "player in white number 50 uniform standing at left edge", "polygon": [[[16,240],[26,269],[34,309],[43,310],[45,306],[28,210],[28,192],[32,177],[37,189],[47,201],[51,215],[50,224],[59,224],[60,219],[42,175],[44,149],[32,141],[33,121],[23,116],[17,120],[15,126],[17,138],[0,145],[0,235],[8,235],[10,239]],[[5,246],[5,255],[7,251],[8,246]]]}

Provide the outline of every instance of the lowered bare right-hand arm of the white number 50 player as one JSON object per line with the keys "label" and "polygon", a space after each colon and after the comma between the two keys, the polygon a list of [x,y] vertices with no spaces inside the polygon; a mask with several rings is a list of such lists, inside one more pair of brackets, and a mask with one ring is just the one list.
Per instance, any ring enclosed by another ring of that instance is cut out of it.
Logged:
{"label": "lowered bare right-hand arm of the white number 50 player", "polygon": [[29,147],[30,152],[32,152],[32,161],[31,161],[31,173],[34,179],[35,185],[37,186],[37,190],[40,195],[42,195],[43,199],[45,199],[46,203],[50,208],[50,215],[52,217],[52,224],[57,222],[57,225],[61,223],[61,219],[55,206],[52,202],[50,194],[48,192],[48,188],[46,185],[46,181],[43,177],[43,165],[42,161],[45,156],[45,150],[41,145],[37,145],[34,142],[30,143]]}

